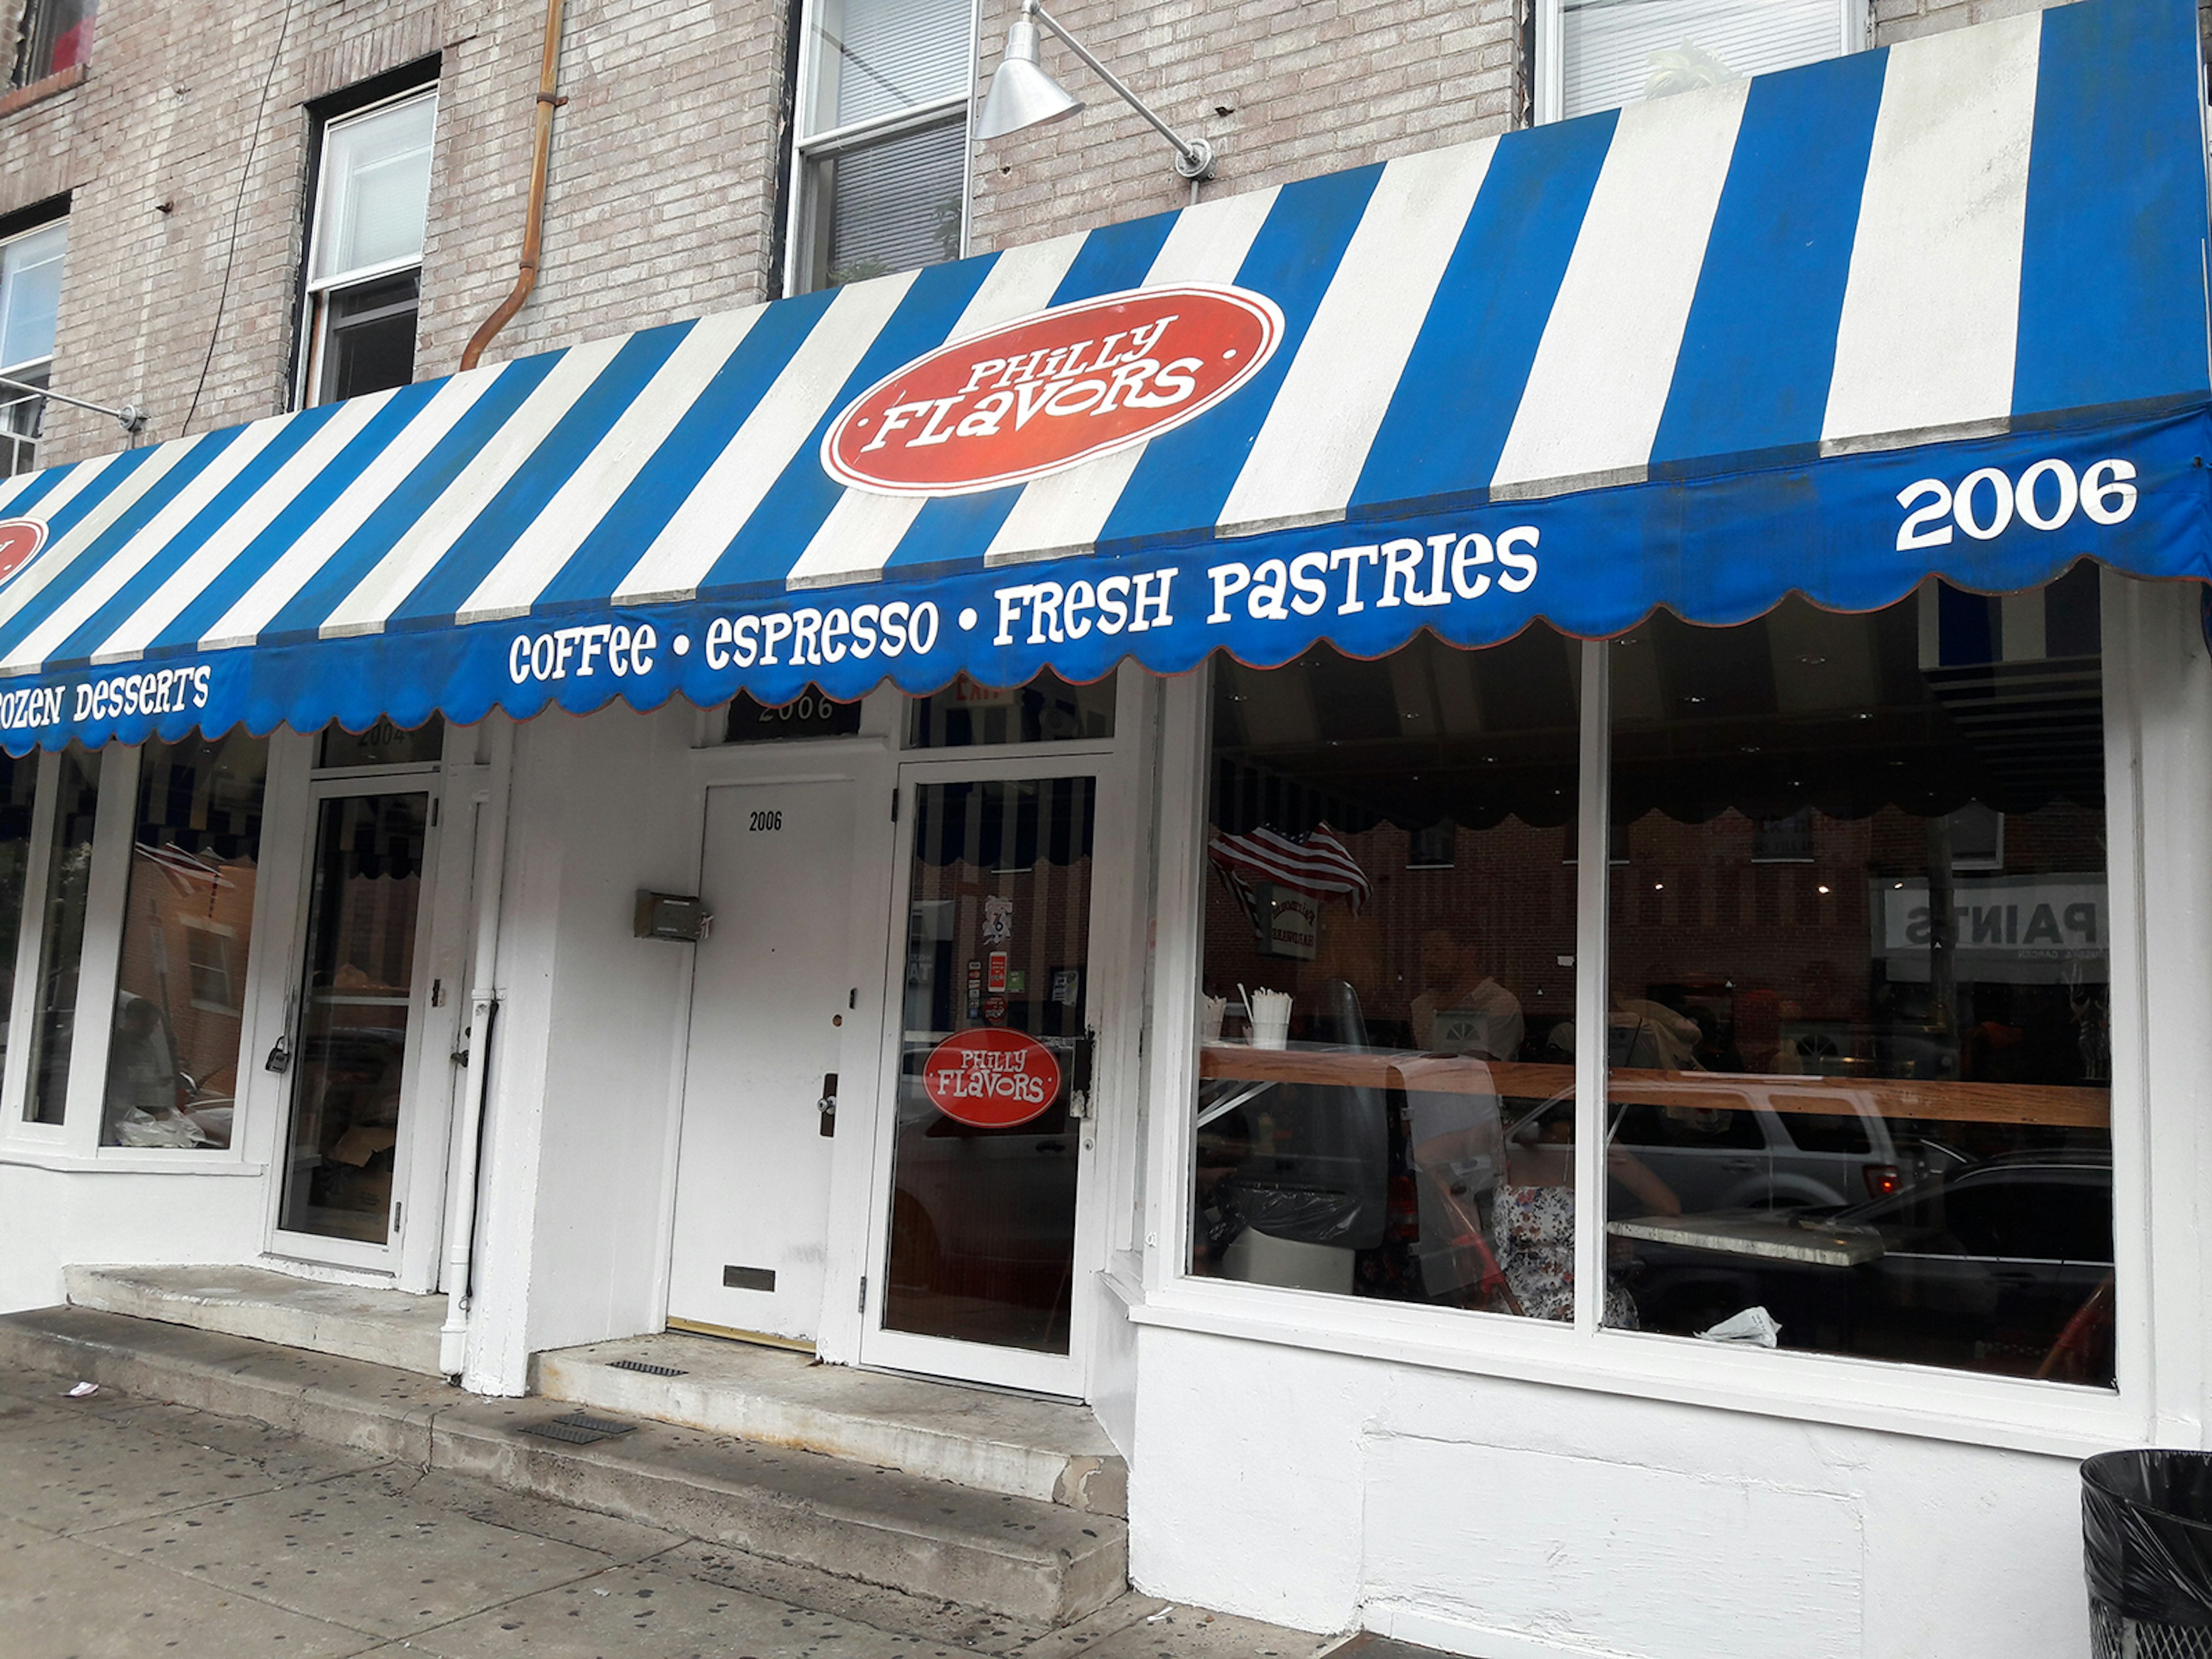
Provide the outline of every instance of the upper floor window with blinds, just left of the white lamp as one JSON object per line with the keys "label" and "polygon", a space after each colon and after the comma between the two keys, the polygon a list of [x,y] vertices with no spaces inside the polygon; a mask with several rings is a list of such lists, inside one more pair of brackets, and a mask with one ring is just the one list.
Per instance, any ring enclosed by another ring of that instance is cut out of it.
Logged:
{"label": "upper floor window with blinds, just left of the white lamp", "polygon": [[792,292],[958,259],[973,0],[807,0]]}

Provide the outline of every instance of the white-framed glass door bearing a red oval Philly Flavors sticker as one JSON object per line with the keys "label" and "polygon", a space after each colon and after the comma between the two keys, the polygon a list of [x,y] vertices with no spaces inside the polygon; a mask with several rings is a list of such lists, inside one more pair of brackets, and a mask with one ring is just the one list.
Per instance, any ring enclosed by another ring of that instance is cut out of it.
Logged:
{"label": "white-framed glass door bearing a red oval Philly Flavors sticker", "polygon": [[1095,776],[909,783],[863,1358],[1075,1394]]}

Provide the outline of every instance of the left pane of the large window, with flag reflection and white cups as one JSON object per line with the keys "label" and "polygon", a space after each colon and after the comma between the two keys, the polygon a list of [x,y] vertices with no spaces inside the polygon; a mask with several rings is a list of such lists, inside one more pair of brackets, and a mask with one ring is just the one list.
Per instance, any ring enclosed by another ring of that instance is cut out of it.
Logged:
{"label": "left pane of the large window, with flag reflection and white cups", "polygon": [[1573,1316],[1579,664],[1214,661],[1194,1274]]}

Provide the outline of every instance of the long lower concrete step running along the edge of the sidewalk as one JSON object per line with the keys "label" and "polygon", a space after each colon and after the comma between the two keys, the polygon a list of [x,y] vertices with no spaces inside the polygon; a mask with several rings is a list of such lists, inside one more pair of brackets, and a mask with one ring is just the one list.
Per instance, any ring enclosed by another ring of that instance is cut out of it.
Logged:
{"label": "long lower concrete step running along the edge of the sidewalk", "polygon": [[46,1307],[0,1316],[0,1363],[1033,1624],[1068,1624],[1128,1586],[1128,1528],[1110,1515],[664,1422],[560,1444],[524,1429],[571,1413],[568,1402],[482,1400],[367,1360]]}

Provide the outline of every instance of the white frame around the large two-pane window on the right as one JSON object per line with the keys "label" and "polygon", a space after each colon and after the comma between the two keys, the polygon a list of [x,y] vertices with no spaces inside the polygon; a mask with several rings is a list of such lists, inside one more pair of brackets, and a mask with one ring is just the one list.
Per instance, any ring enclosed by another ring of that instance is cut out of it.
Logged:
{"label": "white frame around the large two-pane window on the right", "polygon": [[[2194,633],[2197,604],[2188,602]],[[2194,1113],[2212,1104],[2212,1079],[2177,1088],[2190,1055],[2166,1062],[2157,1095],[2166,1102],[2159,1121],[2150,1115],[2150,1075],[2159,1071],[2150,1040],[2150,1002],[2163,998],[2161,1033],[2177,1044],[2183,1026],[2194,1033],[2199,998],[2212,993],[2212,947],[2188,945],[2172,960],[2172,938],[2203,916],[2177,911],[2159,940],[2148,940],[2150,900],[2146,860],[2161,880],[2174,865],[2201,860],[2201,838],[2168,834],[2157,814],[2146,816],[2146,774],[2188,790],[2192,779],[2181,739],[2161,741],[2161,754],[2146,754],[2150,723],[2146,710],[2172,726],[2181,703],[2183,650],[2172,650],[2159,628],[2172,622],[2157,611],[2159,591],[2104,573],[2104,726],[2106,726],[2106,836],[2112,894],[2112,1265],[2119,1283],[2115,1365],[2117,1387],[2097,1389],[2035,1378],[2004,1378],[1951,1371],[1893,1360],[1790,1349],[1743,1352],[1652,1332],[1604,1329],[1604,1210],[1606,1181],[1599,1159],[1577,1168],[1575,1208],[1595,1225],[1575,1230],[1575,1321],[1548,1323],[1506,1314],[1433,1310],[1413,1303],[1363,1301],[1303,1290],[1276,1290],[1188,1272],[1192,1221],[1190,1157],[1192,1113],[1199,1073],[1197,995],[1203,958],[1206,916],[1206,814],[1212,783],[1212,666],[1164,684],[1159,765],[1159,865],[1152,918],[1157,953],[1152,962],[1150,1031],[1159,1035],[1146,1055],[1144,1088],[1157,1104],[1146,1150],[1148,1177],[1139,1199],[1141,1263],[1108,1270],[1108,1285],[1126,1303],[1137,1325],[1234,1336],[1325,1354],[1420,1365],[1469,1376],[1513,1378],[1639,1400],[1674,1400],[1732,1411],[1752,1411],[1820,1425],[1845,1425],[2006,1447],[2055,1455],[2088,1455],[2115,1447],[2146,1444],[2161,1433],[2194,1433],[2201,1407],[2197,1332],[2203,1323],[2194,1279],[2197,1190],[2212,1168],[2212,1150],[2199,1152]],[[2174,630],[2181,633],[2181,630]],[[2199,659],[2199,679],[2212,670]],[[1606,830],[1610,690],[1606,644],[1590,641],[1582,657],[1579,708],[1599,710],[1582,726],[1582,814],[1577,818],[1577,982],[1575,1018],[1586,1031],[1601,1029],[1608,984],[1606,938]],[[2194,703],[2190,706],[2194,708]],[[2201,734],[2197,741],[2201,748]],[[2192,750],[2194,754],[2194,750]],[[2212,759],[2199,757],[2212,774]],[[2181,776],[2172,776],[2172,774]],[[2152,847],[2146,836],[2166,834]],[[2201,967],[2197,958],[2203,956]],[[2157,975],[2152,978],[2152,967]],[[2177,1020],[2177,1000],[2190,1011]],[[2181,1044],[2188,1048],[2188,1044]],[[1597,1146],[1604,1119],[1604,1044],[1586,1044],[1577,1055],[1579,1146]],[[2190,1088],[2197,1095],[2190,1095]],[[2166,1135],[2166,1172],[2152,1168],[2150,1141]],[[2163,1181],[2168,1254],[2152,1276],[2154,1179]],[[2177,1254],[2179,1252],[2179,1254]],[[2208,1252],[2212,1256],[2212,1252]],[[2170,1343],[2154,1345],[2152,1327]]]}

